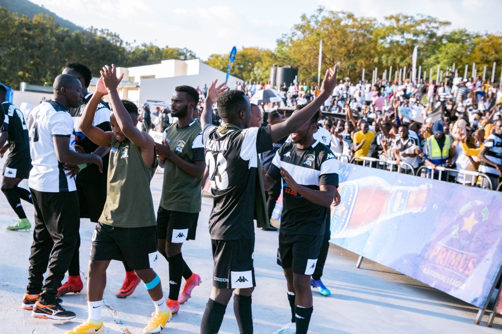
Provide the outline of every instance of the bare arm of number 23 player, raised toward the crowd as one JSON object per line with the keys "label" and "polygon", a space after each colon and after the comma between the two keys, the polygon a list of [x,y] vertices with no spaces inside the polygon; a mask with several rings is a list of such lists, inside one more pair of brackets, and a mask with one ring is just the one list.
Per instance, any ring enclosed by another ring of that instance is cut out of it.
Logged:
{"label": "bare arm of number 23 player, raised toward the crowd", "polygon": [[305,108],[295,112],[286,121],[278,124],[274,124],[270,128],[270,135],[272,136],[272,141],[276,142],[281,138],[295,132],[303,124],[309,121],[312,116],[319,110],[324,101],[331,96],[333,89],[336,86],[336,75],[338,66],[335,65],[334,68],[326,70],[326,75],[322,81],[321,93],[317,96],[310,104]]}

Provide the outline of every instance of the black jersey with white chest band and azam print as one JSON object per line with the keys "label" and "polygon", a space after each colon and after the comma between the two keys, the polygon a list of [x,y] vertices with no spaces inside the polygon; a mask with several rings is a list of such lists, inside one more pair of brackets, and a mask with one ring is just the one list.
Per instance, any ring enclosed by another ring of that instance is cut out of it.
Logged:
{"label": "black jersey with white chest band and azam print", "polygon": [[[338,187],[338,161],[331,150],[316,141],[300,149],[293,142],[282,145],[267,172],[274,180],[281,180],[284,168],[299,185],[319,190],[320,185]],[[328,208],[312,203],[284,183],[281,233],[324,234]]]}

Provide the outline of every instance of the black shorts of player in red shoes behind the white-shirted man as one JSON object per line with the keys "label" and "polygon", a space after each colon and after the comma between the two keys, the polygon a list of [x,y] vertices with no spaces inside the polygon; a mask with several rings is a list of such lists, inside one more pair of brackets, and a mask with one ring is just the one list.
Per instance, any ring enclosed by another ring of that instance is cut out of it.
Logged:
{"label": "black shorts of player in red shoes behind the white-shirted man", "polygon": [[106,203],[106,183],[99,186],[76,184],[80,218],[97,223]]}

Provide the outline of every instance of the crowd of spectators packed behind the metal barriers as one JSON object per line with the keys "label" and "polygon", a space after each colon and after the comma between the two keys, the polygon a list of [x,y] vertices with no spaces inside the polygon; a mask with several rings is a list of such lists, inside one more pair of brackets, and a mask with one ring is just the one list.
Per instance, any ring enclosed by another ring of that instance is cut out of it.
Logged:
{"label": "crowd of spectators packed behind the metal barriers", "polygon": [[[237,82],[233,88],[249,98],[262,89],[279,92],[283,102],[260,106],[264,124],[267,115],[263,110],[295,107],[319,94],[318,86],[306,82],[289,86]],[[194,111],[197,113],[194,118],[198,119],[207,85],[196,89],[201,101]],[[364,163],[358,157],[373,157],[380,161],[365,165],[408,174],[412,169],[416,174],[420,166],[427,165],[427,176],[435,179],[440,175],[438,166],[477,171],[485,174],[495,189],[502,170],[501,105],[502,91],[497,83],[479,76],[473,79],[446,74],[439,83],[435,80],[425,83],[423,79],[392,82],[378,78],[373,84],[367,81],[354,84],[345,78],[321,108],[323,118],[319,125],[331,134],[331,150],[338,156],[346,155],[348,160],[354,158],[354,163]],[[157,107],[152,115],[155,121],[151,121],[150,126],[158,131],[162,132],[173,122],[167,106]],[[141,117],[145,123],[149,122],[149,106],[144,106]],[[220,121],[215,106],[213,123],[219,125]],[[388,163],[390,161],[393,162]],[[441,179],[489,188],[486,179],[471,174],[441,173]]]}

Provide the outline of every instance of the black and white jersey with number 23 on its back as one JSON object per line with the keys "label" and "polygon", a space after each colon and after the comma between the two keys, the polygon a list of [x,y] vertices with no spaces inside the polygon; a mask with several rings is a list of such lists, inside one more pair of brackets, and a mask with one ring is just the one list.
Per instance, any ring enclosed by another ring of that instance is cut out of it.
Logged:
{"label": "black and white jersey with number 23 on its back", "polygon": [[222,134],[210,125],[204,130],[203,143],[214,200],[209,217],[211,239],[253,239],[258,153],[273,148],[270,126]]}

